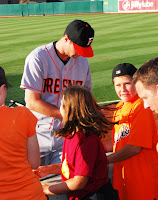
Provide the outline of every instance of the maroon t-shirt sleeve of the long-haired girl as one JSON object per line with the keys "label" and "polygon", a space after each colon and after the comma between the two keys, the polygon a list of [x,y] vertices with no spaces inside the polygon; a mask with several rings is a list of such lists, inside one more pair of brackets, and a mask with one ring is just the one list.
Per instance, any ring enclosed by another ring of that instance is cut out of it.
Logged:
{"label": "maroon t-shirt sleeve of the long-haired girl", "polygon": [[98,142],[96,138],[86,137],[76,150],[74,176],[81,175],[92,177],[97,153]]}

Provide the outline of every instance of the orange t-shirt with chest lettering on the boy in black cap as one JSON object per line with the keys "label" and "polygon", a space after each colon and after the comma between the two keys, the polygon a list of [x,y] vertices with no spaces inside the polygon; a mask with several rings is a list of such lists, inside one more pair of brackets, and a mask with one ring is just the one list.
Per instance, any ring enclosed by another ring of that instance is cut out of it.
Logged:
{"label": "orange t-shirt with chest lettering on the boy in black cap", "polygon": [[142,151],[114,163],[113,186],[120,200],[158,199],[157,130],[153,113],[144,109],[143,101],[135,96],[130,102],[117,104],[113,128],[113,152],[125,145],[143,147]]}

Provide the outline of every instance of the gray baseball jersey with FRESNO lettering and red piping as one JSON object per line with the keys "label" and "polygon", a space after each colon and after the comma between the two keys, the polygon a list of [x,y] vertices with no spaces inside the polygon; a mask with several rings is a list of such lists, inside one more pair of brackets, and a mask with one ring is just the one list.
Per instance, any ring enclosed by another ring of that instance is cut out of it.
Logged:
{"label": "gray baseball jersey with FRESNO lettering and red piping", "polygon": [[[40,46],[27,56],[20,85],[22,89],[40,93],[41,100],[59,108],[61,92],[70,85],[82,85],[91,90],[91,73],[86,58],[70,58],[64,65],[53,43]],[[56,131],[61,127],[60,119],[33,113],[38,118],[37,126],[41,130]]]}

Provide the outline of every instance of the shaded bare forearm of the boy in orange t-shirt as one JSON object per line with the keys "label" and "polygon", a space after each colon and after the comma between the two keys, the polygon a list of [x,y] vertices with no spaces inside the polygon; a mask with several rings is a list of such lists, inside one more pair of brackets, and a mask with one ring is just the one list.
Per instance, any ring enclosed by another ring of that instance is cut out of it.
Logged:
{"label": "shaded bare forearm of the boy in orange t-shirt", "polygon": [[127,144],[119,151],[116,151],[115,153],[107,156],[108,163],[115,163],[126,160],[132,156],[137,155],[141,152],[141,150],[142,147]]}

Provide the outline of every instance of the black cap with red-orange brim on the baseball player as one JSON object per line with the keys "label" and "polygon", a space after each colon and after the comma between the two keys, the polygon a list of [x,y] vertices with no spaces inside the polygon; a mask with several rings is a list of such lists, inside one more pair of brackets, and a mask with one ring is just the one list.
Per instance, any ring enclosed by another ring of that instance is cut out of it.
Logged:
{"label": "black cap with red-orange brim on the baseball player", "polygon": [[72,21],[65,30],[65,34],[73,42],[75,51],[82,57],[93,57],[91,43],[94,38],[94,30],[82,20]]}

